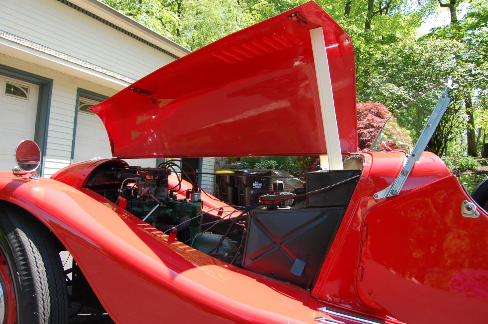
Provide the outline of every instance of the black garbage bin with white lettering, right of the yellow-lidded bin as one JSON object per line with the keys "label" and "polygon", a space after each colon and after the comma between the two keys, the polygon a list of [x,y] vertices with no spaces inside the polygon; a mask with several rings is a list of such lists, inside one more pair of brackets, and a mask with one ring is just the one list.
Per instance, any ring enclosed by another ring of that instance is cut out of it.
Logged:
{"label": "black garbage bin with white lettering, right of the yellow-lidded bin", "polygon": [[267,177],[271,175],[270,171],[247,171],[240,170],[234,172],[237,196],[240,206],[255,204],[259,201],[259,195],[251,194],[253,189],[264,190],[266,188]]}

